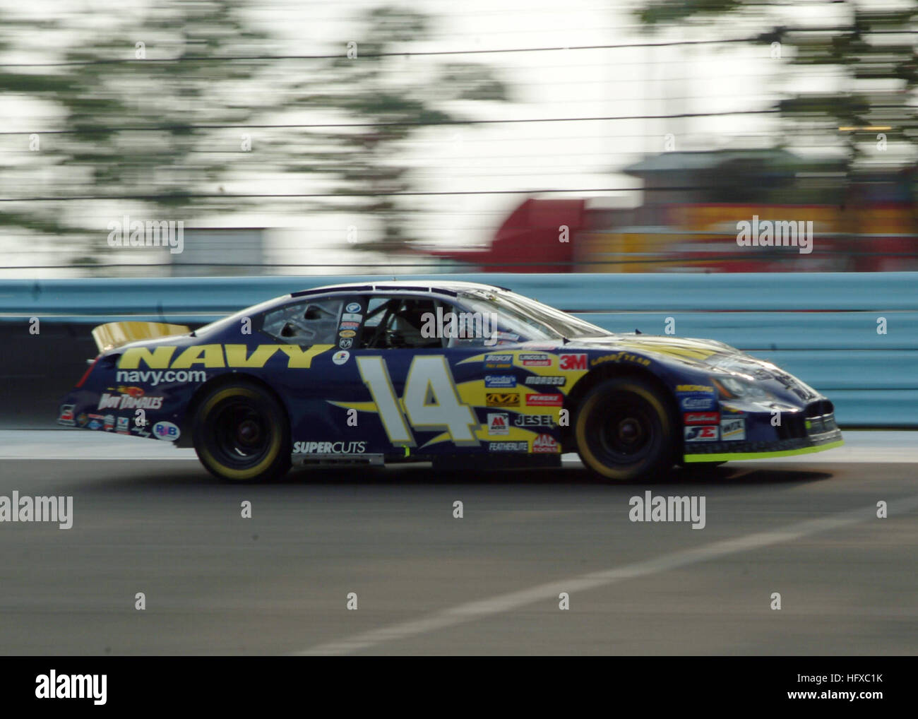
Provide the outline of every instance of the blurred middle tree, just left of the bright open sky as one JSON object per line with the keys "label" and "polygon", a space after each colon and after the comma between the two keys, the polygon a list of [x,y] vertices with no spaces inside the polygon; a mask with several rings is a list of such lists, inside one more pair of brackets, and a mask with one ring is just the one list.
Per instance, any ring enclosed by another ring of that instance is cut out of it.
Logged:
{"label": "blurred middle tree, just left of the bright open sky", "polygon": [[[312,68],[293,86],[288,107],[316,111],[357,128],[310,129],[286,163],[290,173],[326,175],[333,192],[360,194],[331,200],[320,209],[364,214],[378,223],[374,251],[404,249],[411,236],[405,193],[417,189],[405,161],[405,144],[435,126],[461,125],[450,101],[505,101],[508,92],[485,65],[436,62],[430,56],[398,54],[409,42],[425,39],[431,18],[413,9],[376,7],[358,18],[353,41],[341,56]],[[289,138],[285,142],[289,142]],[[287,145],[288,151],[291,146]]]}

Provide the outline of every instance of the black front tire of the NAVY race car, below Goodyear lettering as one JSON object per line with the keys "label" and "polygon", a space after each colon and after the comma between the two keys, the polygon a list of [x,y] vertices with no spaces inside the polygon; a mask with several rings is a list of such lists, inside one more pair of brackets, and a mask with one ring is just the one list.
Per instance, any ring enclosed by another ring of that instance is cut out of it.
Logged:
{"label": "black front tire of the NAVY race car, below Goodyear lettering", "polygon": [[577,408],[577,454],[594,477],[627,482],[667,475],[677,456],[678,425],[660,390],[639,377],[613,377]]}

